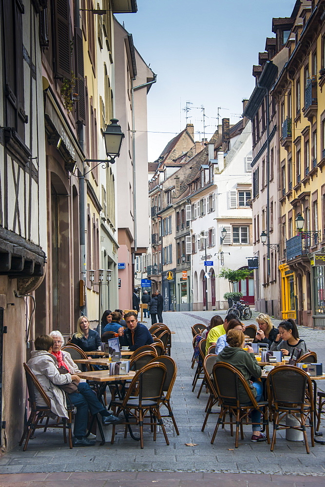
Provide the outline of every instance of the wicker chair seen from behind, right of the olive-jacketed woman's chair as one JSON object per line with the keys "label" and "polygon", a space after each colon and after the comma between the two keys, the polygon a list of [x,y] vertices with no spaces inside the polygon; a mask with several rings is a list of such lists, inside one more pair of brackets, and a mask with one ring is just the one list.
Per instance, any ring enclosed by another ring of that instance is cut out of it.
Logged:
{"label": "wicker chair seen from behind, right of the olive-jacketed woman's chair", "polygon": [[[293,365],[280,365],[268,373],[267,391],[269,408],[273,412],[271,451],[276,442],[277,430],[293,428],[303,431],[306,452],[309,453],[306,427],[310,428],[311,446],[314,446],[314,401],[309,375]],[[292,414],[297,419],[299,426],[283,424],[283,419],[288,414]],[[306,424],[307,419],[309,424]]]}

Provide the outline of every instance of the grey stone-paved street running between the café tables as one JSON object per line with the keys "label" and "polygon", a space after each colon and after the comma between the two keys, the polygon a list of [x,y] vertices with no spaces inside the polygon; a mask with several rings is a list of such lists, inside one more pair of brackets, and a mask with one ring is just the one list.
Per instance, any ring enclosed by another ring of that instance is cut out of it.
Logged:
{"label": "grey stone-paved street running between the caf\u00e9 tables", "polygon": [[[228,487],[228,484],[230,487],[241,483],[255,487],[256,482],[268,487],[274,483],[278,484],[280,479],[281,482],[286,482],[286,485],[291,486],[296,483],[297,487],[309,485],[311,481],[314,486],[315,483],[325,485],[325,446],[316,444],[314,448],[310,448],[310,454],[307,455],[302,442],[287,441],[284,434],[279,432],[275,450],[270,452],[266,442],[250,442],[249,426],[244,426],[244,440],[240,440],[238,449],[234,448],[234,438],[230,436],[227,426],[225,430],[218,431],[214,445],[211,445],[215,415],[210,416],[206,430],[201,431],[208,397],[207,394],[201,393],[200,398],[197,399],[198,387],[195,393],[191,392],[194,374],[191,369],[191,325],[201,321],[209,322],[210,318],[217,313],[225,316],[225,311],[163,314],[164,322],[174,332],[172,356],[178,367],[172,392],[172,409],[180,435],[176,436],[172,424],[167,421],[170,446],[166,445],[162,433],[158,433],[157,441],[153,442],[152,435],[147,430],[144,449],[141,450],[138,442],[129,436],[124,438],[124,427],[117,426],[114,445],[107,442],[104,446],[99,446],[97,443],[96,447],[70,450],[63,443],[60,431],[52,430],[46,433],[37,431],[35,438],[30,440],[26,452],[17,447],[0,458],[0,473],[4,474],[0,476],[0,487],[40,487],[61,484],[63,486],[63,483],[66,485],[68,478],[69,487],[86,485],[86,482],[89,483],[87,479],[93,479],[94,487],[104,485],[141,487],[148,486],[152,482],[157,483],[157,487],[177,487],[185,484],[191,487],[191,484],[197,481],[205,485],[216,480],[222,482],[225,487]],[[254,321],[256,314],[253,312],[250,322]],[[278,323],[279,320],[274,320],[275,325]],[[325,331],[300,327],[299,333],[306,340],[308,348],[317,352],[320,361],[325,360]],[[319,385],[325,389],[325,384],[320,382]],[[323,425],[325,426],[324,422]],[[271,427],[270,432],[272,432]],[[109,440],[110,435],[110,427],[107,427]],[[187,443],[192,443],[193,446],[187,446]],[[64,473],[51,475],[52,472]],[[228,475],[224,478],[221,473],[225,472],[228,472]],[[36,476],[32,475],[34,473]],[[233,475],[235,473],[241,475],[235,476]],[[247,473],[261,475],[244,475]],[[282,474],[282,476],[274,477],[274,474]],[[304,475],[304,477],[286,477],[284,474]],[[314,480],[310,478],[315,476],[317,478]]]}

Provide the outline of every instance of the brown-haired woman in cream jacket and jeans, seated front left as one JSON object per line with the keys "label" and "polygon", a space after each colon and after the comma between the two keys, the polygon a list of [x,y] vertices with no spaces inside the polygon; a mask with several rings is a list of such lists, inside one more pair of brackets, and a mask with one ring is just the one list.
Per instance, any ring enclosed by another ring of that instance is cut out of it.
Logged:
{"label": "brown-haired woman in cream jacket and jeans, seated front left", "polygon": [[[62,364],[58,365],[57,358],[52,355],[54,347],[53,337],[41,335],[36,338],[34,345],[36,350],[31,352],[32,358],[28,361],[27,365],[36,375],[39,383],[49,396],[51,401],[51,411],[57,414],[57,416],[68,417],[66,396],[59,386],[70,384],[72,380],[76,381],[78,383],[78,391],[76,393],[67,394],[70,402],[76,406],[73,446],[85,447],[95,445],[94,441],[90,441],[85,437],[88,422],[88,410],[90,410],[91,414],[99,412],[102,416],[103,424],[116,424],[119,422],[118,418],[108,412],[98,401],[96,394],[92,391],[89,384],[86,382],[80,383],[78,375],[75,375],[74,373],[70,374],[70,369],[67,364],[65,364],[65,368],[69,370],[67,374],[60,374],[58,372],[57,368],[58,366],[62,366]],[[71,356],[70,360],[72,361],[74,369],[71,370],[71,372],[77,372],[77,366],[73,362]],[[37,390],[35,393],[38,406],[45,405]]]}

